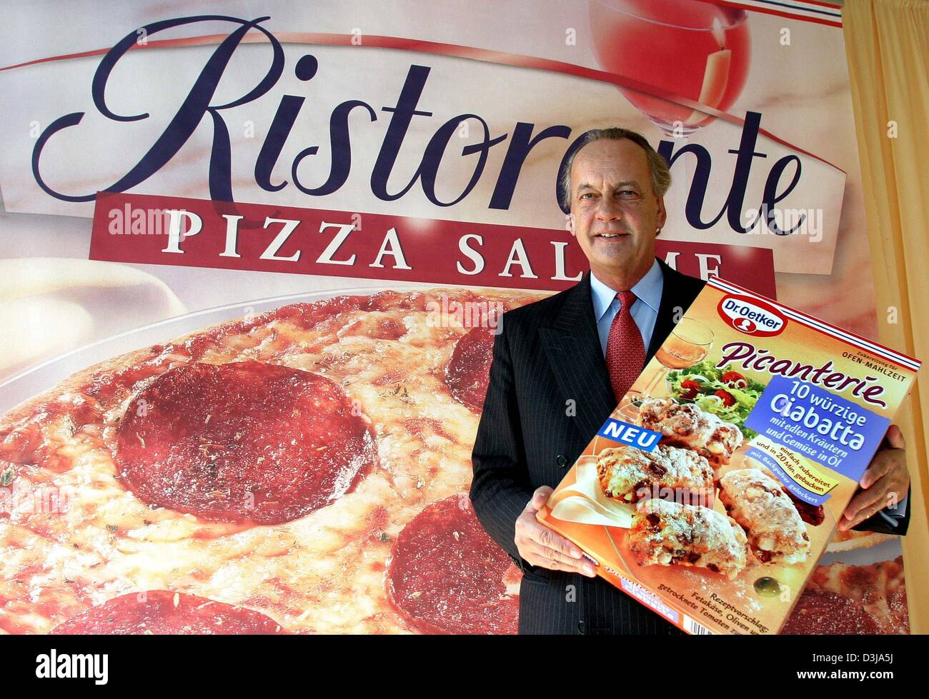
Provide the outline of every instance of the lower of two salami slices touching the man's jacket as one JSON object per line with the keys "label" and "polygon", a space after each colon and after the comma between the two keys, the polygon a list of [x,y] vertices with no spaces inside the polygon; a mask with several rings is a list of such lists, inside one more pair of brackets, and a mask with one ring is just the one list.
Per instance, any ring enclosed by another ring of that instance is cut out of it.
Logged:
{"label": "lower of two salami slices touching the man's jacket", "polygon": [[517,567],[481,527],[466,493],[416,515],[387,563],[390,602],[426,633],[517,633],[518,582]]}

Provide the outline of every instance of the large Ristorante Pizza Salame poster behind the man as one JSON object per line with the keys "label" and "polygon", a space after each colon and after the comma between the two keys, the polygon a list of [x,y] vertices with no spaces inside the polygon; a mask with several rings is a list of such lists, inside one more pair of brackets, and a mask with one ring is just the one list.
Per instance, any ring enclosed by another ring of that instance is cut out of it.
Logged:
{"label": "large Ristorante Pizza Salame poster behind the man", "polygon": [[[471,508],[503,314],[582,278],[589,129],[661,259],[876,336],[819,2],[19,3],[0,28],[0,631],[515,633]],[[788,629],[908,633],[895,537]]]}

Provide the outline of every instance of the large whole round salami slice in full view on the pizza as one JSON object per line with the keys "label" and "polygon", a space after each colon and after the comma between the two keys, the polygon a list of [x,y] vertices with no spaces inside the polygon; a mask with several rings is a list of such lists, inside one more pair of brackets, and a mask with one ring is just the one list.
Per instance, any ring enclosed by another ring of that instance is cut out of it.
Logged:
{"label": "large whole round salami slice in full view on the pizza", "polygon": [[375,459],[342,388],[256,361],[168,369],[117,428],[123,484],[206,520],[279,524],[344,495]]}

